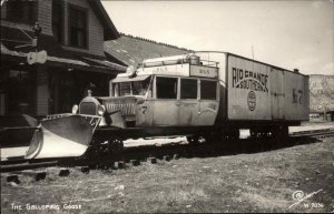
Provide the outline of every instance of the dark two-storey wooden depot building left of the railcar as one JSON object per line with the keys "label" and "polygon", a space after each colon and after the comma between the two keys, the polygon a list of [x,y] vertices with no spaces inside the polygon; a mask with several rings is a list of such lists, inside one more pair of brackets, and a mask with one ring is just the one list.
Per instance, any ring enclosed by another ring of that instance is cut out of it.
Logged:
{"label": "dark two-storey wooden depot building left of the railcar", "polygon": [[88,89],[108,95],[108,81],[126,71],[104,51],[117,38],[99,0],[4,1],[0,115],[71,112]]}

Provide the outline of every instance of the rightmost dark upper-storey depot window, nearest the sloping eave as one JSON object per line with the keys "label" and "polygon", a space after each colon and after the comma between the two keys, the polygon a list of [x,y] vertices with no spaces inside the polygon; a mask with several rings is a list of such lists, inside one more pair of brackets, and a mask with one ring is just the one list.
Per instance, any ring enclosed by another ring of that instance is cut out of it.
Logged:
{"label": "rightmost dark upper-storey depot window, nearest the sloping eave", "polygon": [[69,7],[69,44],[87,48],[87,11]]}

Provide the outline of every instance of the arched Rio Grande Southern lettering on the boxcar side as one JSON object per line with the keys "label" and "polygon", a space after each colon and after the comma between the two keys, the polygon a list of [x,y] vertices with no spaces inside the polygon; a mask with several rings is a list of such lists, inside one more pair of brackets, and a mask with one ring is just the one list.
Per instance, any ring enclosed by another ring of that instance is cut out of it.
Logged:
{"label": "arched Rio Grande Southern lettering on the boxcar side", "polygon": [[232,68],[232,86],[252,91],[268,92],[268,75]]}

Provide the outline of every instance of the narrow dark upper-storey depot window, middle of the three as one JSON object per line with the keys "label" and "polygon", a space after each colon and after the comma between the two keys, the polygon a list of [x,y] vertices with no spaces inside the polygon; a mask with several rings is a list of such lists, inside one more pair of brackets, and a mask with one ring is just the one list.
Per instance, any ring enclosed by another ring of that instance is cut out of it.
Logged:
{"label": "narrow dark upper-storey depot window, middle of the three", "polygon": [[58,42],[62,42],[62,6],[61,0],[52,0],[52,33]]}

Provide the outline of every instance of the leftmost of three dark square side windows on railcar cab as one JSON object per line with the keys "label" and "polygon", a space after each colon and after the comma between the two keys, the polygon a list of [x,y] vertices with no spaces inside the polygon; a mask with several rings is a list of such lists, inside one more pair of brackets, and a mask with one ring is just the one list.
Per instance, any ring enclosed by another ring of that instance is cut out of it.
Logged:
{"label": "leftmost of three dark square side windows on railcar cab", "polygon": [[157,77],[157,99],[177,99],[177,78]]}

